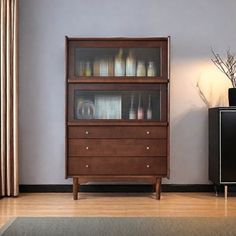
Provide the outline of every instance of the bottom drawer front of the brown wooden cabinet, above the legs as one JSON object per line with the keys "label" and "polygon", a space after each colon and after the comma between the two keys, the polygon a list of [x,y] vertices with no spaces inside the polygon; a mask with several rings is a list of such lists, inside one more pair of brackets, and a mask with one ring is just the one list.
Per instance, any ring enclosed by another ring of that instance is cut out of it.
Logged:
{"label": "bottom drawer front of the brown wooden cabinet, above the legs", "polygon": [[68,175],[162,175],[166,157],[70,157]]}

